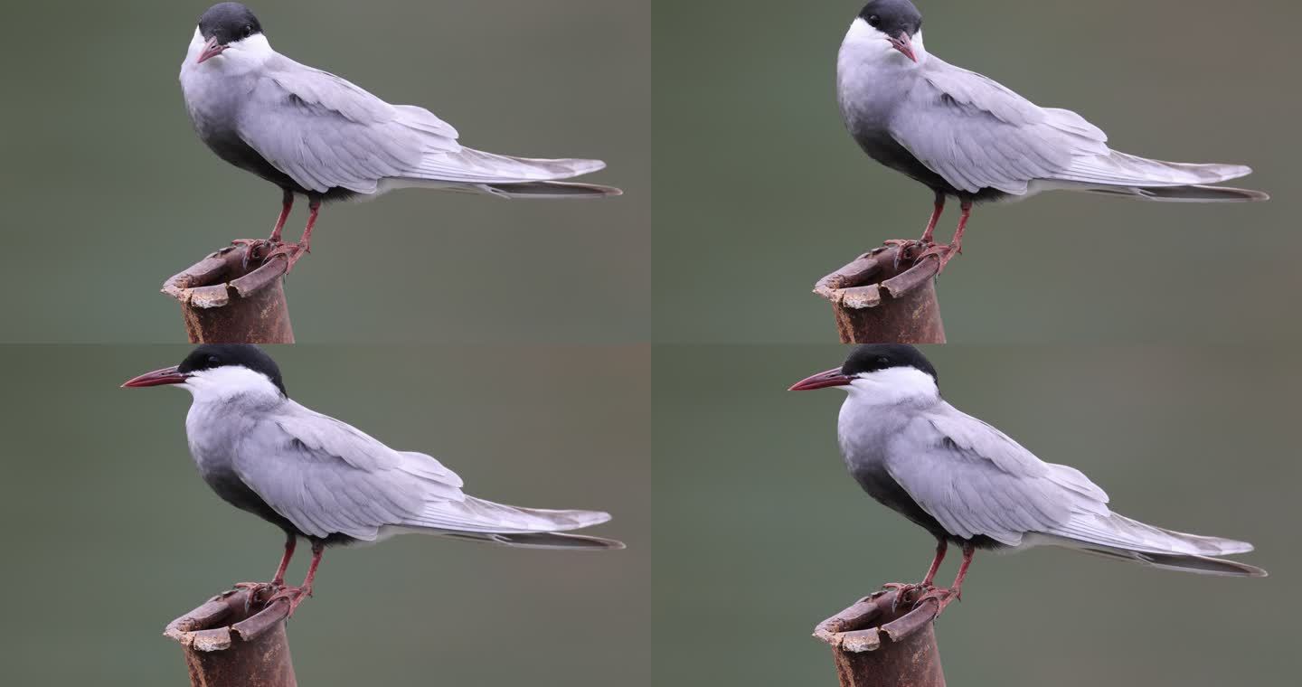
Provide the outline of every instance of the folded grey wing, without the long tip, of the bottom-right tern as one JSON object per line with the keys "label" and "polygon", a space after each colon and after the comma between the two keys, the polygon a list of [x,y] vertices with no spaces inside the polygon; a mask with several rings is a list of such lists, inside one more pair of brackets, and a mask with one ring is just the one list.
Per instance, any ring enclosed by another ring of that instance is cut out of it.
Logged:
{"label": "folded grey wing, without the long tip, of the bottom-right tern", "polygon": [[943,403],[889,446],[887,471],[952,535],[1017,546],[1079,515],[1108,514],[1108,496],[1075,468],[1046,463],[999,429]]}

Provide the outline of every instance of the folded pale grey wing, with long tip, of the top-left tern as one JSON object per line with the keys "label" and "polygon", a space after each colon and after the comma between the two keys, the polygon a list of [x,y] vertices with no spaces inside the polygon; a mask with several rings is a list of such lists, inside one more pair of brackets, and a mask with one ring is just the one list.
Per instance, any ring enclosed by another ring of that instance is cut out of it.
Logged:
{"label": "folded pale grey wing, with long tip, of the top-left tern", "polygon": [[529,183],[604,167],[599,160],[512,157],[467,148],[415,105],[392,105],[328,72],[273,57],[238,118],[240,137],[309,191],[374,194],[384,180]]}

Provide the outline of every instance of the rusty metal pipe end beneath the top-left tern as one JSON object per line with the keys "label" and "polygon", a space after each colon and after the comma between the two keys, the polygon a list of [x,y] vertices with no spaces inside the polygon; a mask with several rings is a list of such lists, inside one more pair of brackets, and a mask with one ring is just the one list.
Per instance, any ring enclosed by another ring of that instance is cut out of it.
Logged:
{"label": "rusty metal pipe end beneath the top-left tern", "polygon": [[288,262],[245,268],[249,246],[228,246],[163,284],[181,303],[190,344],[293,344],[284,277]]}

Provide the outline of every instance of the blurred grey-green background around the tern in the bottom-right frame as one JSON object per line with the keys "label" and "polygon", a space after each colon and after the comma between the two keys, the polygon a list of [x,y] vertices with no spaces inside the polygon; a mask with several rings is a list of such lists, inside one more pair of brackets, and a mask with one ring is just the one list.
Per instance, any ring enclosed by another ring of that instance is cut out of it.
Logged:
{"label": "blurred grey-green background around the tern in the bottom-right frame", "polygon": [[[927,532],[865,494],[836,442],[844,394],[790,393],[841,346],[658,346],[655,683],[836,684],[814,626],[917,582]],[[1112,507],[1256,545],[1266,579],[1144,569],[1057,548],[978,553],[940,618],[950,684],[1284,684],[1295,651],[1292,347],[928,347],[940,388]],[[939,579],[957,570],[947,561]]]}

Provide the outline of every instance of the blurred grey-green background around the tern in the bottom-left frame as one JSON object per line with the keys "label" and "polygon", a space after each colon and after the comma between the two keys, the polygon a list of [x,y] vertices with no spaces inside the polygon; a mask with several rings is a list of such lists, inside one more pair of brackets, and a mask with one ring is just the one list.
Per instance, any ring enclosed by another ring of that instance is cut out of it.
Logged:
{"label": "blurred grey-green background around the tern in the bottom-left frame", "polygon": [[[184,346],[5,346],[0,684],[185,684],[163,626],[275,570],[279,531],[199,479],[189,394],[118,389]],[[400,536],[326,552],[299,684],[647,684],[650,351],[276,347],[297,401],[437,457],[469,493],[608,510],[621,552]],[[302,549],[302,546],[299,546]],[[299,553],[289,578],[301,580]],[[506,647],[506,648],[501,648]]]}

